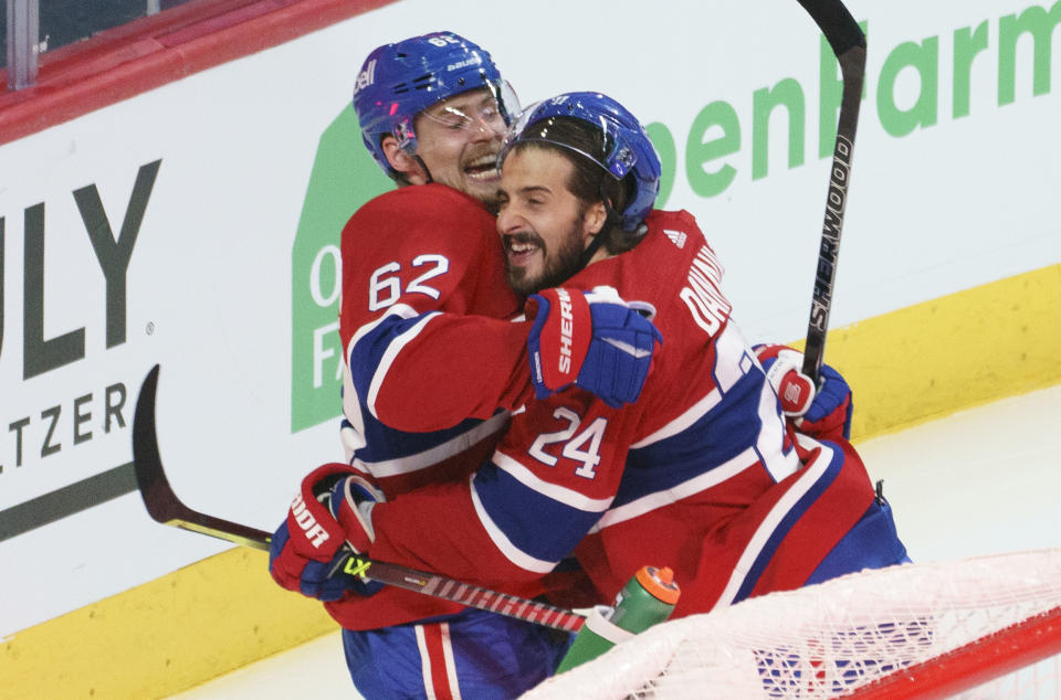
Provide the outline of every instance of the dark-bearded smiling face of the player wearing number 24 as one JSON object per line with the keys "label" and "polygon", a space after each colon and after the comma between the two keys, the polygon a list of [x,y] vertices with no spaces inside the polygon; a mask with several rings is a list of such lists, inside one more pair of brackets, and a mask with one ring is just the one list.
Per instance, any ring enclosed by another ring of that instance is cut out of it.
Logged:
{"label": "dark-bearded smiling face of the player wearing number 24", "polygon": [[508,284],[522,294],[561,285],[603,223],[567,189],[572,166],[548,148],[524,146],[505,157],[498,191],[497,232]]}

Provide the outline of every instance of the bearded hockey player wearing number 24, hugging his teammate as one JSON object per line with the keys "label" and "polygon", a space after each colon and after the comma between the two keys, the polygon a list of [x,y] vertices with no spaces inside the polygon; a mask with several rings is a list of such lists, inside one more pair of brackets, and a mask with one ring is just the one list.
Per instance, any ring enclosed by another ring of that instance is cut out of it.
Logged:
{"label": "bearded hockey player wearing number 24, hugging his teammate", "polygon": [[378,503],[368,555],[494,584],[574,551],[605,600],[641,565],[670,566],[675,616],[907,561],[842,426],[819,420],[816,439],[786,424],[693,218],[651,209],[659,160],[632,115],[576,93],[521,123],[502,151],[510,282],[548,305],[560,283],[611,285],[655,309],[664,342],[635,403],[578,388],[528,403],[474,477]]}

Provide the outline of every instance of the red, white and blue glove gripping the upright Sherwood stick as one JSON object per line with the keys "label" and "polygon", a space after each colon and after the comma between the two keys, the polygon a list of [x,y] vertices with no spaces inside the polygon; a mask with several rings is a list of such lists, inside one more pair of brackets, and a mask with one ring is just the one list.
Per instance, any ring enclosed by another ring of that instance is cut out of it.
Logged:
{"label": "red, white and blue glove gripping the upright Sherwood stick", "polygon": [[851,436],[854,403],[851,388],[839,372],[822,364],[820,385],[815,391],[810,378],[800,371],[801,352],[786,346],[763,344],[755,347],[755,354],[777,392],[781,412],[799,432],[824,439]]}

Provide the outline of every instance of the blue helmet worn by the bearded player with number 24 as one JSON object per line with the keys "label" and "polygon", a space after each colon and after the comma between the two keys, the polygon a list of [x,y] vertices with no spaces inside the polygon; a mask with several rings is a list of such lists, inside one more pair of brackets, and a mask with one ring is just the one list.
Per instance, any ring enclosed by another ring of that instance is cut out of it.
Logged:
{"label": "blue helmet worn by the bearded player with number 24", "polygon": [[[557,138],[550,128],[557,117],[588,121],[603,137],[599,153]],[[545,141],[574,150],[607,170],[617,180],[632,173],[633,192],[619,212],[624,231],[634,231],[644,221],[660,193],[660,156],[641,123],[618,102],[601,93],[565,93],[528,107],[508,130],[497,156],[504,161],[508,149],[521,141]]]}

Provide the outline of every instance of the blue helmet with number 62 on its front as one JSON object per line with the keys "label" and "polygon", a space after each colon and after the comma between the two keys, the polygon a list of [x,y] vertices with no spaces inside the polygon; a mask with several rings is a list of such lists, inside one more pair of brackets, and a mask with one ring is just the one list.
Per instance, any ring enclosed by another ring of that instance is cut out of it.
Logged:
{"label": "blue helmet with number 62 on its front", "polygon": [[453,32],[433,32],[379,46],[365,59],[354,86],[354,110],[361,138],[376,162],[391,177],[382,137],[392,136],[410,152],[417,148],[413,120],[443,99],[486,87],[497,100],[505,124],[518,110],[490,53]]}

